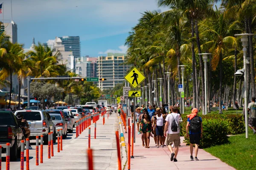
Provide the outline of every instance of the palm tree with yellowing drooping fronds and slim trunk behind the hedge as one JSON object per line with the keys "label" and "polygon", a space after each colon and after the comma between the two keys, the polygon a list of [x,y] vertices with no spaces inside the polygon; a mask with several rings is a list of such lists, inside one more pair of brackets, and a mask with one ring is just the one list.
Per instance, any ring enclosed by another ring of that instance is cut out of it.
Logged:
{"label": "palm tree with yellowing drooping fronds and slim trunk behind the hedge", "polygon": [[210,39],[202,46],[204,49],[209,50],[209,52],[212,53],[212,69],[216,70],[217,66],[219,66],[219,113],[222,113],[222,60],[224,51],[227,51],[228,47],[236,48],[238,46],[238,40],[232,36],[232,26],[233,25],[230,23],[230,20],[226,20],[224,18],[224,12],[218,9],[216,11],[215,18],[207,18],[199,23],[201,36]]}

